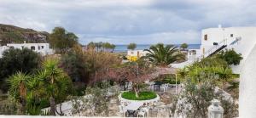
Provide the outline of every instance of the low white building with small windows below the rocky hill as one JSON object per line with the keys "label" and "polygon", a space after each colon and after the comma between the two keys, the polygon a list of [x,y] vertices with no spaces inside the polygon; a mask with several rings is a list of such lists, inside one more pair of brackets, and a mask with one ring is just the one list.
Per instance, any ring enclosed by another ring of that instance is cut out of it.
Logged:
{"label": "low white building with small windows below the rocky hill", "polygon": [[9,48],[29,48],[42,55],[52,54],[53,50],[49,48],[49,43],[9,43],[0,47],[0,58],[5,50]]}

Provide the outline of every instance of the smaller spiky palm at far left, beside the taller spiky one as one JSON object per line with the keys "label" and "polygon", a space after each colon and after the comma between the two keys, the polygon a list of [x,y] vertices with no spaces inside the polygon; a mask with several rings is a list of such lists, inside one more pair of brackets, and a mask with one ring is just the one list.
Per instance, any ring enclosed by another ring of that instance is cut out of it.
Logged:
{"label": "smaller spiky palm at far left, beside the taller spiky one", "polygon": [[26,114],[26,84],[30,76],[21,73],[20,71],[15,73],[15,75],[9,77],[9,94],[15,99],[20,101],[21,112]]}

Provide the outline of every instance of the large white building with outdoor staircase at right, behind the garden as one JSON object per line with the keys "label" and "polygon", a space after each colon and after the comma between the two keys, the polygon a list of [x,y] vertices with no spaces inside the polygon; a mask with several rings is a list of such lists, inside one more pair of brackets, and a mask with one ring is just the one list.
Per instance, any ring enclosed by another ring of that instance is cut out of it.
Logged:
{"label": "large white building with outdoor staircase at right, behind the garden", "polygon": [[[201,48],[195,49],[196,54],[188,53],[188,61],[194,61],[218,53],[224,48],[234,48],[237,53],[241,53],[243,59],[241,65],[247,59],[248,54],[256,44],[256,27],[228,27],[208,28],[201,32]],[[195,58],[196,57],[196,58]],[[191,60],[193,59],[193,60]],[[191,63],[189,63],[191,64]],[[181,64],[180,64],[181,65]],[[178,64],[173,67],[183,67]],[[241,73],[240,65],[233,66],[236,73]]]}

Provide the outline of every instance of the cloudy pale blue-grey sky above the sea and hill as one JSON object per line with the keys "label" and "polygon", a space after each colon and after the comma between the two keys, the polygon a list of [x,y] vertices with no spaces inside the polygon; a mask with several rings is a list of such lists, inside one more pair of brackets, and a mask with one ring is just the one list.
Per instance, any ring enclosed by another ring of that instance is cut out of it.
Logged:
{"label": "cloudy pale blue-grey sky above the sea and hill", "polygon": [[198,44],[205,28],[256,26],[255,8],[254,0],[0,0],[0,24],[61,26],[82,44]]}

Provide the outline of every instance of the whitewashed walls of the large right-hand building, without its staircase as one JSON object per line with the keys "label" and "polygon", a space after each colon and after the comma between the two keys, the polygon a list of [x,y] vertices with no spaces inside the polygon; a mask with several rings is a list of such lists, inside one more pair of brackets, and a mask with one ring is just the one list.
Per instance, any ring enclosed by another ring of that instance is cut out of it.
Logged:
{"label": "whitewashed walls of the large right-hand building, without its staircase", "polygon": [[[204,40],[206,34],[207,41]],[[231,34],[233,34],[233,37],[230,37]],[[241,40],[230,45],[237,37],[240,37]],[[256,44],[256,27],[209,28],[202,30],[201,53],[203,52],[203,48],[207,51],[213,47],[213,42],[221,42],[224,39],[227,39],[227,48],[234,48],[237,53],[241,53],[243,57],[243,60],[241,60],[242,65],[244,60],[247,59],[248,53],[251,52],[253,46]],[[241,73],[241,65],[232,66],[235,73]]]}

